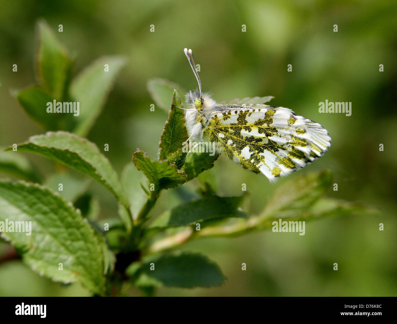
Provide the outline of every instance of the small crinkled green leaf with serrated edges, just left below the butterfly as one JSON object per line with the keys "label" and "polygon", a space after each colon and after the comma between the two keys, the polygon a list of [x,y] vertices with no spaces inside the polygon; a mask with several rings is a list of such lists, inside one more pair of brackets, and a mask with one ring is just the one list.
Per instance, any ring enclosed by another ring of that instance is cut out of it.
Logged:
{"label": "small crinkled green leaf with serrated edges, just left below the butterfly", "polygon": [[154,191],[174,188],[178,184],[186,182],[186,175],[178,170],[175,165],[164,161],[152,161],[150,157],[140,149],[133,155],[133,162],[139,171],[142,171],[149,183],[154,184]]}

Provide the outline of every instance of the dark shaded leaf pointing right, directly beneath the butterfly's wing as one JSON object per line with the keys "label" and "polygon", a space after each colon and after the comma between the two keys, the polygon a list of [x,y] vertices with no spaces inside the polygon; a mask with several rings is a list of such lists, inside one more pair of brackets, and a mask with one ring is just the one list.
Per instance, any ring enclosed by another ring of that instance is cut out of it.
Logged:
{"label": "dark shaded leaf pointing right, directly beneath the butterfly's wing", "polygon": [[247,217],[239,209],[246,195],[239,197],[204,196],[202,199],[181,204],[164,213],[150,227],[170,227],[196,224],[207,219]]}

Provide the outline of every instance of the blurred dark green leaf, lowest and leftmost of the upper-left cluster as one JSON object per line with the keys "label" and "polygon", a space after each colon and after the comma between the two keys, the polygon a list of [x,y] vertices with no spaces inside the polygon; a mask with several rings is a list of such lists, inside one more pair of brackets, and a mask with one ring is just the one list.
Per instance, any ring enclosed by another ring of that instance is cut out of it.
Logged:
{"label": "blurred dark green leaf, lowest and leftmost of the upper-left cluster", "polygon": [[33,120],[46,130],[58,130],[64,114],[47,113],[47,103],[53,103],[53,97],[43,89],[33,86],[16,92],[19,104]]}

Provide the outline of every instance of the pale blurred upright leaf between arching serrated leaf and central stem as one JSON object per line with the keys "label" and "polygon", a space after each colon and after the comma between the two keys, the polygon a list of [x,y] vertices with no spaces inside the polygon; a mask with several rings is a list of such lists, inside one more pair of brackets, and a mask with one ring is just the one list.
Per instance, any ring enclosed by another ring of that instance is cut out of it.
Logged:
{"label": "pale blurred upright leaf between arching serrated leaf and central stem", "polygon": [[142,183],[146,183],[145,176],[137,170],[133,163],[126,164],[121,173],[121,185],[128,197],[133,219],[136,219],[148,199],[148,195],[142,188]]}

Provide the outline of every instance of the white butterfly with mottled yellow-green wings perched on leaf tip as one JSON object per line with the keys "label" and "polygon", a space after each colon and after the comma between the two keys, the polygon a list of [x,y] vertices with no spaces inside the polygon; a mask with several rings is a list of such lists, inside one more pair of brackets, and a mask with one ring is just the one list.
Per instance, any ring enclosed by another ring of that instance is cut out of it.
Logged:
{"label": "white butterfly with mottled yellow-green wings perched on leaf tip", "polygon": [[331,146],[320,124],[291,109],[258,104],[220,105],[202,93],[192,50],[184,49],[198,89],[186,93],[185,125],[190,141],[209,138],[218,153],[270,181],[303,168]]}

